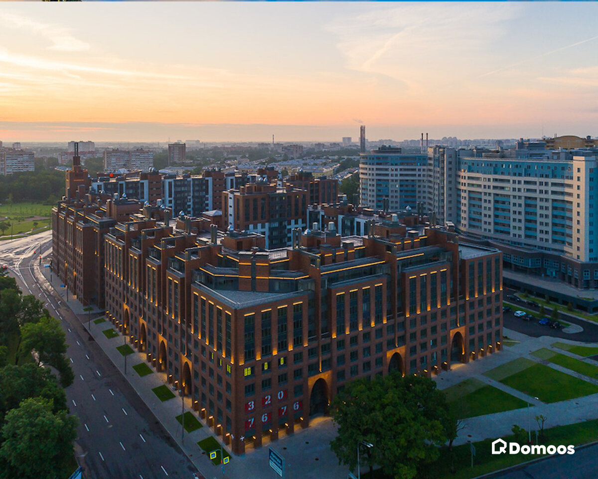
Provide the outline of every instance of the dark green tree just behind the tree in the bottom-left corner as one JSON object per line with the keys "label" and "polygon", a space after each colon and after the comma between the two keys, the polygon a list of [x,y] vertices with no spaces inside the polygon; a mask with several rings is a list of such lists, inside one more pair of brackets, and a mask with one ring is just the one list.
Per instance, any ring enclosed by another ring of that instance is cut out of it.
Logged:
{"label": "dark green tree just behind the tree in the bottom-left corner", "polygon": [[8,411],[19,407],[23,399],[35,396],[51,399],[54,413],[66,410],[65,390],[49,369],[33,363],[0,369],[0,421]]}

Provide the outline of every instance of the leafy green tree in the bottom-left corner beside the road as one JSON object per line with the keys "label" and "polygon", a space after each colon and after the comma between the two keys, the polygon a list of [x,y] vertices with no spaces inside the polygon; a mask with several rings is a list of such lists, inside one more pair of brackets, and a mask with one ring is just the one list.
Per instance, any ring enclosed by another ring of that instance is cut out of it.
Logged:
{"label": "leafy green tree in the bottom-left corner beside the road", "polygon": [[73,454],[77,418],[66,411],[53,413],[52,401],[28,398],[8,411],[2,426],[2,479],[68,477],[65,468]]}

